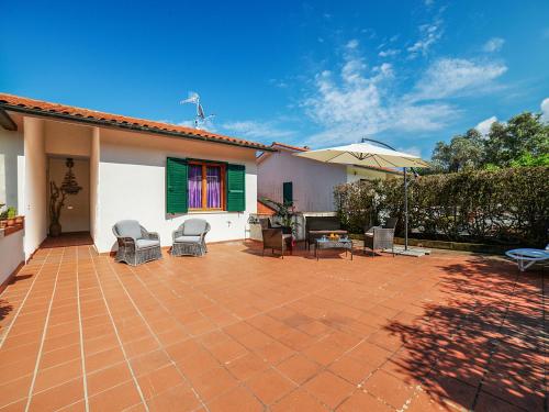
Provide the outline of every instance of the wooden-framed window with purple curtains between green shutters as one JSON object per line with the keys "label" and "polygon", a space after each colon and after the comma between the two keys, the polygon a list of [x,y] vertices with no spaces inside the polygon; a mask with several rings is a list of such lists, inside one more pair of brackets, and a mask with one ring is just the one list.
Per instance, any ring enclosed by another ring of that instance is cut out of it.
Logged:
{"label": "wooden-framed window with purple curtains between green shutters", "polygon": [[189,162],[189,209],[225,209],[225,166]]}

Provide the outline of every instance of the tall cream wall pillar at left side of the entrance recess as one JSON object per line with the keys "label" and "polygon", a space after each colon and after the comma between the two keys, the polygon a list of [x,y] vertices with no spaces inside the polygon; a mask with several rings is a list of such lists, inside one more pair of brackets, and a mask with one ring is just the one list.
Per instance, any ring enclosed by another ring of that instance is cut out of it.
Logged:
{"label": "tall cream wall pillar at left side of the entrance recess", "polygon": [[36,250],[47,235],[46,154],[44,121],[24,118],[24,214],[25,258]]}

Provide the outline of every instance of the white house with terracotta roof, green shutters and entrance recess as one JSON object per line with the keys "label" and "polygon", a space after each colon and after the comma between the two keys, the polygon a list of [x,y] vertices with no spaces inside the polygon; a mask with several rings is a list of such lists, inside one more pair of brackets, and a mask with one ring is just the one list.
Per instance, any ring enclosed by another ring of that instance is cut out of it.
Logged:
{"label": "white house with terracotta roof, green shutters and entrance recess", "polygon": [[82,188],[67,198],[64,232],[115,248],[112,225],[138,220],[163,246],[186,219],[212,226],[209,242],[245,237],[257,209],[256,152],[270,147],[143,119],[0,93],[0,202],[25,215],[24,256],[48,235],[49,182],[67,158]]}

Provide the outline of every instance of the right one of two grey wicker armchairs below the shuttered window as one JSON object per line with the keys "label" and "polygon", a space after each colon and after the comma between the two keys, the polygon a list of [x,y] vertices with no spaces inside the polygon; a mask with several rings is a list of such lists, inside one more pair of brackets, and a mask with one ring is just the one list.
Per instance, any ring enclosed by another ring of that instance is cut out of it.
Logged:
{"label": "right one of two grey wicker armchairs below the shuttered window", "polygon": [[210,232],[210,223],[203,219],[189,219],[184,221],[171,235],[173,256],[202,256],[208,253],[205,235]]}

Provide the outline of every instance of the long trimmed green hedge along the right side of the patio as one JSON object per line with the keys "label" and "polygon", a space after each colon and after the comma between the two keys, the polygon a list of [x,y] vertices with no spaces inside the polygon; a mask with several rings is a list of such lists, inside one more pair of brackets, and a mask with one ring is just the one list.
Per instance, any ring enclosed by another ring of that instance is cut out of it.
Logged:
{"label": "long trimmed green hedge along the right side of the patio", "polygon": [[[399,218],[403,180],[340,185],[335,201],[354,233]],[[545,246],[549,230],[549,167],[522,167],[421,176],[408,183],[410,230],[424,237]]]}

